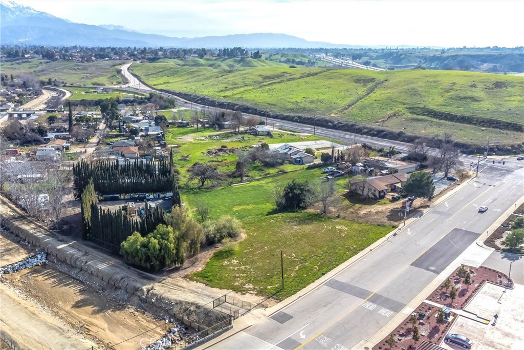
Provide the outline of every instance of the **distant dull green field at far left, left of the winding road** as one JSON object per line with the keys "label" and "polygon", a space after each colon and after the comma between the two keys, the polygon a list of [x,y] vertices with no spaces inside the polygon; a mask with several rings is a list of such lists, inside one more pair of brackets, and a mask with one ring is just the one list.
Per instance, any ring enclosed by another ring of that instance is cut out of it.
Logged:
{"label": "distant dull green field at far left, left of the winding road", "polygon": [[18,73],[27,72],[32,73],[39,79],[58,79],[68,84],[110,86],[123,83],[116,69],[125,63],[125,61],[78,63],[44,59],[4,60],[2,61],[2,72],[3,74],[13,74],[15,76]]}

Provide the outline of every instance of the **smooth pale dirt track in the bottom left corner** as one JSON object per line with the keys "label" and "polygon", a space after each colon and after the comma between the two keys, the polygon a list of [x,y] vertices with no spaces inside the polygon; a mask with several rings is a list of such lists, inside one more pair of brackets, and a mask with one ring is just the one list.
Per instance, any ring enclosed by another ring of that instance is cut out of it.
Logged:
{"label": "smooth pale dirt track in the bottom left corner", "polygon": [[88,349],[96,346],[81,334],[72,332],[67,324],[30,300],[20,298],[16,291],[0,284],[2,337],[23,349]]}

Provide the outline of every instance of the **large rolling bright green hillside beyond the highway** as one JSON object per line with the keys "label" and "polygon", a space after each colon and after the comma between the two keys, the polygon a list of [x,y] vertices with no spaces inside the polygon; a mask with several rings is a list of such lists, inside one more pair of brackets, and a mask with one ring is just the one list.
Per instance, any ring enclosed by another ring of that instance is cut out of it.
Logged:
{"label": "large rolling bright green hillside beyond the highway", "polygon": [[[486,136],[501,143],[522,141],[518,132],[479,128],[410,112],[411,108],[423,107],[524,124],[521,77],[463,71],[289,68],[277,62],[259,61],[277,66],[245,68],[238,62],[196,59],[134,64],[131,69],[154,87],[275,112],[330,115],[410,134],[447,131],[466,143],[484,142]],[[366,90],[377,83],[381,84],[366,95]],[[348,105],[352,107],[347,108]]]}

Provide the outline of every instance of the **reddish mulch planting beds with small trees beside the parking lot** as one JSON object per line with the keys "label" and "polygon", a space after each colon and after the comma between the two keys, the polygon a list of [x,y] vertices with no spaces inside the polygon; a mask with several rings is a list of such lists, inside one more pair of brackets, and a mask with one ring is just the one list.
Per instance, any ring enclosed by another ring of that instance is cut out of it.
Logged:
{"label": "reddish mulch planting beds with small trees beside the parking lot", "polygon": [[[419,342],[438,345],[459,316],[488,324],[489,320],[483,316],[467,311],[467,305],[485,283],[507,286],[510,289],[514,287],[513,281],[499,271],[482,266],[461,266],[393,332],[376,344],[373,350],[413,349]],[[447,310],[443,307],[447,307]],[[449,312],[449,316],[445,311]]]}

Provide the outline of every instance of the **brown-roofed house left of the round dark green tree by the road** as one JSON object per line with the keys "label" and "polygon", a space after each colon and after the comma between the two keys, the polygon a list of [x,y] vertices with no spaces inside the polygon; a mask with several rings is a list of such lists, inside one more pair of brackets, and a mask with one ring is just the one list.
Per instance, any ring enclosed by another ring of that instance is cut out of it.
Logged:
{"label": "brown-roofed house left of the round dark green tree by the road", "polygon": [[401,192],[402,184],[406,182],[409,175],[404,173],[369,178],[353,178],[350,181],[352,192],[364,197],[381,199],[389,192]]}

